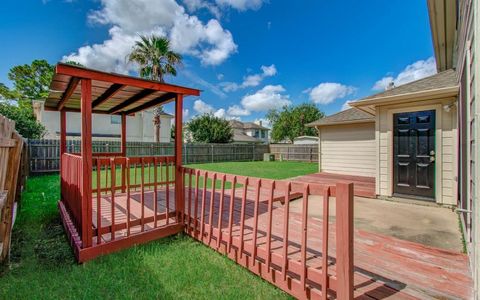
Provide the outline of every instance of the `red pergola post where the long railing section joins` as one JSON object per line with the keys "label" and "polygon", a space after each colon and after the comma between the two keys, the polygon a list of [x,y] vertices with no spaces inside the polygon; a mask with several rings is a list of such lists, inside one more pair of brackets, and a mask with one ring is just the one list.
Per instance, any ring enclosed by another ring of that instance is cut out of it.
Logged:
{"label": "red pergola post where the long railing section joins", "polygon": [[177,220],[183,222],[183,175],[182,175],[182,120],[183,120],[183,95],[175,97],[175,210]]}

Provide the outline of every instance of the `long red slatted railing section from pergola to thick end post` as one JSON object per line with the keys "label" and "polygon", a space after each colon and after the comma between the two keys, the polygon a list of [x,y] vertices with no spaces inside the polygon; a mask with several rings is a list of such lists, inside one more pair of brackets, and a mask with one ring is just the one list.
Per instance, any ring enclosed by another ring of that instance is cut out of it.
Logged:
{"label": "long red slatted railing section from pergola to thick end post", "polygon": [[189,235],[297,298],[353,298],[353,184],[183,175]]}

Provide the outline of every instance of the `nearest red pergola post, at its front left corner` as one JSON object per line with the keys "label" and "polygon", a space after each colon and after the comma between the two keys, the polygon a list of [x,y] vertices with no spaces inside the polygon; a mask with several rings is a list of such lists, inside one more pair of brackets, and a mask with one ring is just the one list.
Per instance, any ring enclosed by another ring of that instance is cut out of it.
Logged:
{"label": "nearest red pergola post, at its front left corner", "polygon": [[92,80],[82,79],[81,93],[81,155],[82,155],[82,242],[92,245]]}

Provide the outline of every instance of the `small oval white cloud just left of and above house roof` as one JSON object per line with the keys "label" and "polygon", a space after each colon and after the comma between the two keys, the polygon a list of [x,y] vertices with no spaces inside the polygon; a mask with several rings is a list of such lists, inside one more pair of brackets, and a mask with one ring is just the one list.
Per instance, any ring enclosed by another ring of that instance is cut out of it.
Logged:
{"label": "small oval white cloud just left of and above house roof", "polygon": [[344,98],[354,92],[354,87],[335,82],[323,82],[316,87],[304,91],[304,93],[310,95],[310,100],[316,104],[329,104],[336,99]]}

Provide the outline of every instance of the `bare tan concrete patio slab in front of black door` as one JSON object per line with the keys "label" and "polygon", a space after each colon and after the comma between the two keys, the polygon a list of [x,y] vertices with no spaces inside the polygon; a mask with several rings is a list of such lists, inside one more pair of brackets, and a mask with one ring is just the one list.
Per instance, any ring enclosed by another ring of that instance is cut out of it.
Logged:
{"label": "bare tan concrete patio slab in front of black door", "polygon": [[[322,216],[322,199],[309,201],[310,216]],[[335,202],[331,201],[335,217]],[[291,203],[300,213],[302,201]],[[355,197],[355,229],[395,237],[425,246],[463,252],[458,215],[450,208]]]}

